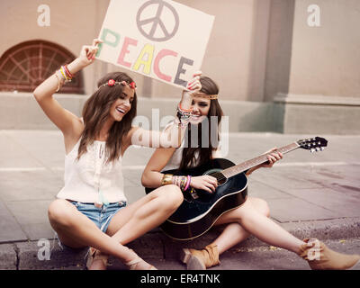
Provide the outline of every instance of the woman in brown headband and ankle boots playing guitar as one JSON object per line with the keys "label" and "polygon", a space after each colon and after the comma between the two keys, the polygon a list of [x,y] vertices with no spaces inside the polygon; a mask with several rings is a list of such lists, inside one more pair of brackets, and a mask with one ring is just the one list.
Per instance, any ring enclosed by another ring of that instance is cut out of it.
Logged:
{"label": "woman in brown headband and ankle boots playing guitar", "polygon": [[[202,131],[206,136],[211,134],[211,116],[218,117],[214,125],[218,125],[221,120],[222,111],[218,103],[218,86],[209,77],[201,77],[200,82],[202,89],[199,94],[193,96],[193,105],[191,112],[190,124],[197,125],[201,123],[206,117],[208,118],[209,130]],[[202,189],[208,193],[215,191],[218,186],[217,179],[211,175],[188,176],[188,175],[169,175],[161,173],[170,169],[184,170],[187,167],[196,167],[206,163],[210,158],[220,157],[220,151],[211,147],[211,141],[208,148],[193,148],[191,137],[191,128],[193,125],[189,124],[189,142],[184,146],[184,142],[180,148],[161,148],[157,149],[153,156],[148,161],[144,173],[142,175],[142,184],[149,188],[166,187],[167,184],[177,184],[183,191],[188,187],[195,189]],[[206,127],[206,126],[205,126]],[[217,127],[216,127],[217,128]],[[202,128],[203,129],[203,128]],[[213,129],[213,127],[212,127]],[[201,129],[199,129],[201,130]],[[216,131],[218,131],[216,129]],[[196,134],[198,137],[196,143],[202,143],[202,133]],[[186,139],[186,138],[184,138]],[[219,135],[217,135],[219,139]],[[255,166],[247,170],[247,175],[257,170],[260,167],[271,167],[276,161],[283,156],[276,148],[266,152],[268,162],[259,166]],[[269,218],[269,208],[267,203],[258,198],[247,197],[247,200],[238,208],[226,211],[220,215],[215,222],[215,225],[227,224],[220,236],[216,238],[210,245],[204,247],[202,250],[183,249],[181,260],[187,264],[188,269],[206,269],[211,266],[220,264],[219,255],[230,247],[243,241],[250,234],[265,241],[266,243],[283,247],[289,251],[297,253],[299,256],[309,261],[309,265],[313,269],[345,269],[356,265],[359,261],[359,256],[349,256],[338,254],[317,239],[300,240],[295,238],[285,229],[275,224]],[[309,252],[319,245],[318,259],[311,259]]]}

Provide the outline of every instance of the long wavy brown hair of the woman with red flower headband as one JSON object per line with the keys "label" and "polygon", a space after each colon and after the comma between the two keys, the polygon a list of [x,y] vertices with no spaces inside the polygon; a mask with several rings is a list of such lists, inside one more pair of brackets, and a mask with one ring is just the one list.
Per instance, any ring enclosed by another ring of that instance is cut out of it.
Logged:
{"label": "long wavy brown hair of the woman with red flower headband", "polygon": [[[110,116],[112,103],[118,100],[122,93],[123,85],[104,85],[100,87],[110,79],[117,82],[126,81],[129,84],[133,82],[130,76],[122,72],[108,73],[97,82],[98,89],[84,104],[82,115],[85,128],[81,135],[77,159],[80,159],[80,157],[87,152],[87,146],[91,145],[94,139],[99,136],[103,124]],[[131,129],[131,122],[136,116],[136,106],[137,95],[135,92],[130,111],[123,116],[121,121],[115,121],[109,130],[105,149],[106,156],[108,157],[107,162],[113,162],[121,156],[121,142],[123,137],[126,136]]]}

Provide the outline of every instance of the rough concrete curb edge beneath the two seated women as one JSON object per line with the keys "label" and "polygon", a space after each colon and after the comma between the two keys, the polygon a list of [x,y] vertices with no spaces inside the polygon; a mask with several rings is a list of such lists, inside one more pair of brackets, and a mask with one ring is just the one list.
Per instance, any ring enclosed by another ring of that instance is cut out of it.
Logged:
{"label": "rough concrete curb edge beneath the two seated women", "polygon": [[[281,224],[297,238],[345,239],[360,238],[360,218],[344,218],[334,220],[299,221]],[[128,247],[134,249],[145,259],[161,259],[174,261],[182,247],[200,248],[219,235],[222,228],[211,229],[201,238],[187,241],[175,241],[166,237],[159,229],[153,229],[146,235],[131,242]],[[254,247],[266,247],[267,244],[255,237],[247,238],[230,251],[241,251]],[[49,254],[46,254],[48,249]],[[87,249],[71,250],[58,247],[58,241],[14,242],[0,245],[1,270],[53,270],[85,269]],[[124,269],[121,262],[110,257],[112,269]]]}

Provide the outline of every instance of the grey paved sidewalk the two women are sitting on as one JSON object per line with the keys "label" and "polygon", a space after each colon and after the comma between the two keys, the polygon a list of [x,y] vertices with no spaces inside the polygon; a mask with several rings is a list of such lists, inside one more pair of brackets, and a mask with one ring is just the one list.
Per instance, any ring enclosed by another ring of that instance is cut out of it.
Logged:
{"label": "grey paved sidewalk the two women are sitting on", "polygon": [[[329,147],[312,154],[297,149],[273,168],[257,170],[249,178],[248,193],[265,199],[271,218],[296,237],[337,239],[339,243],[352,243],[352,253],[360,254],[360,136],[232,133],[227,158],[238,164],[270,148],[313,136],[328,139]],[[85,251],[60,252],[47,218],[49,203],[63,185],[61,133],[0,130],[0,151],[0,269],[82,269]],[[152,151],[130,148],[125,153],[123,173],[129,202],[144,195],[140,177]],[[202,247],[218,232],[212,229],[202,238],[176,242],[154,229],[130,243],[130,247],[140,256],[154,259],[160,268],[184,269],[175,261],[176,251],[184,246]],[[51,259],[41,261],[40,248],[46,245]],[[228,260],[218,269],[252,269],[254,266],[236,266],[231,260],[239,251],[251,249],[278,251],[279,257],[287,253],[251,237],[224,254]],[[121,268],[116,263],[113,267]],[[303,263],[293,268],[308,269]]]}

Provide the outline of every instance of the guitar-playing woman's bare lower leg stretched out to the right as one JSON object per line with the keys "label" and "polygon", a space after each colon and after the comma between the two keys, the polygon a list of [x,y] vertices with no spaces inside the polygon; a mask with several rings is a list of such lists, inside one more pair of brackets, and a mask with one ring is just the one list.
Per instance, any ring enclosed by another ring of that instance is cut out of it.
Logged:
{"label": "guitar-playing woman's bare lower leg stretched out to the right", "polygon": [[298,253],[300,246],[305,244],[288,231],[257,211],[254,205],[247,201],[233,211],[223,214],[220,223],[238,222],[248,233],[275,247]]}

